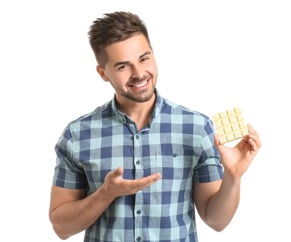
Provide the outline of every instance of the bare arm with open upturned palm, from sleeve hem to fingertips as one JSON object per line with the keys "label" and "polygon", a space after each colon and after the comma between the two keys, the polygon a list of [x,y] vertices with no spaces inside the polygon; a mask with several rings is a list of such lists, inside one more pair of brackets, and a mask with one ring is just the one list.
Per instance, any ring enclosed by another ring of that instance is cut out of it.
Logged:
{"label": "bare arm with open upturned palm, from sleeve hem to fingertips", "polygon": [[86,196],[85,189],[52,186],[49,220],[59,238],[66,240],[91,226],[115,197],[136,194],[156,182],[161,175],[156,173],[138,180],[128,180],[120,177],[122,174],[123,168],[120,167],[109,172],[102,186],[86,198],[83,198]]}

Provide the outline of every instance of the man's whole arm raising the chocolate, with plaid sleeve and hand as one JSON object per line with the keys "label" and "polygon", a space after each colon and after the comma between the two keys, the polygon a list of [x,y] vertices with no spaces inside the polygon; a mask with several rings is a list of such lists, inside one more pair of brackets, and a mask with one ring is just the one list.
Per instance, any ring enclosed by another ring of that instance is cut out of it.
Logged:
{"label": "man's whole arm raising the chocolate, with plaid sleeve and hand", "polygon": [[[249,135],[232,148],[220,144],[210,119],[204,126],[202,152],[194,170],[193,196],[201,219],[216,231],[222,231],[232,220],[239,205],[241,177],[261,147],[258,132],[250,124],[247,126]],[[222,180],[211,181],[220,173],[213,168],[215,164],[220,166],[213,162],[214,158],[225,168]]]}

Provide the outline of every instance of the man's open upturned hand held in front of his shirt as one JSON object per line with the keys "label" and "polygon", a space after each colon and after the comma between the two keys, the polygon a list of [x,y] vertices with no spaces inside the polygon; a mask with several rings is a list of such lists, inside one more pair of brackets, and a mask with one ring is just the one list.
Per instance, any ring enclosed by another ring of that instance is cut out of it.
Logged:
{"label": "man's open upturned hand held in front of his shirt", "polygon": [[114,199],[118,196],[136,194],[138,191],[152,185],[161,178],[159,176],[162,176],[160,173],[156,173],[141,179],[129,180],[120,177],[122,174],[123,168],[118,167],[106,175],[102,187],[107,196]]}

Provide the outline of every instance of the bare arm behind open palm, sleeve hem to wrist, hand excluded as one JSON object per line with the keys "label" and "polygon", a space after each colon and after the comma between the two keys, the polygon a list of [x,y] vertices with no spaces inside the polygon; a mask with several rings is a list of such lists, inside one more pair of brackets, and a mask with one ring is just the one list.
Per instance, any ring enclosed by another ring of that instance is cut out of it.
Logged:
{"label": "bare arm behind open palm, sleeve hem to wrist, hand excluded", "polygon": [[54,185],[51,187],[49,220],[55,233],[62,240],[80,233],[95,223],[114,200],[103,192],[102,186],[86,198],[85,191]]}

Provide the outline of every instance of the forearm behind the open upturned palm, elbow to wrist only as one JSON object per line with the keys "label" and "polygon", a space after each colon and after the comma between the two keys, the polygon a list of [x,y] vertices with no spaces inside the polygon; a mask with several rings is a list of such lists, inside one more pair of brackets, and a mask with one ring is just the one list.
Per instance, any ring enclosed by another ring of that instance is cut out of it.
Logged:
{"label": "forearm behind the open upturned palm, elbow to wrist only", "polygon": [[101,186],[84,199],[59,206],[51,215],[54,231],[62,240],[80,233],[94,224],[113,200],[103,192]]}

